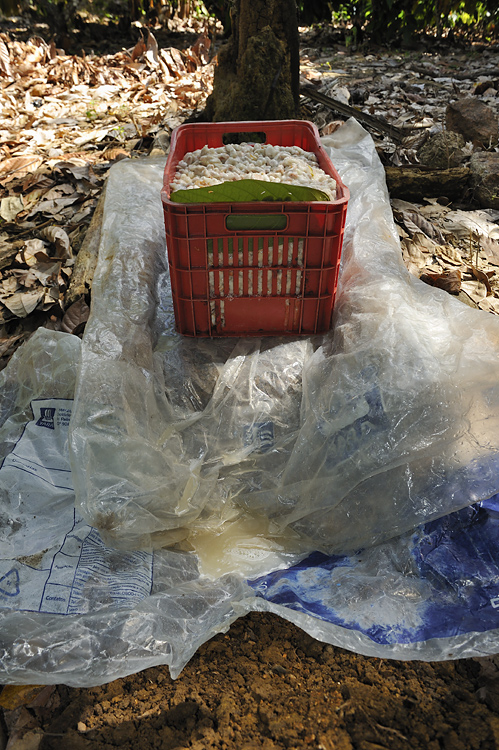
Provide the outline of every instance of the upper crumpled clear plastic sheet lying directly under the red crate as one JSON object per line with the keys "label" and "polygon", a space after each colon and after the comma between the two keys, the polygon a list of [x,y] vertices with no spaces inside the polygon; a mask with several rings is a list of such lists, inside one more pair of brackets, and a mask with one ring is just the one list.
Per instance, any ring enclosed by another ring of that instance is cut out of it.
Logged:
{"label": "upper crumpled clear plastic sheet lying directly under the red crate", "polygon": [[314,340],[178,336],[163,162],[113,168],[71,432],[78,507],[109,543],[192,543],[249,513],[297,552],[345,553],[497,491],[499,321],[406,271],[365,131],[323,142],[352,197]]}

